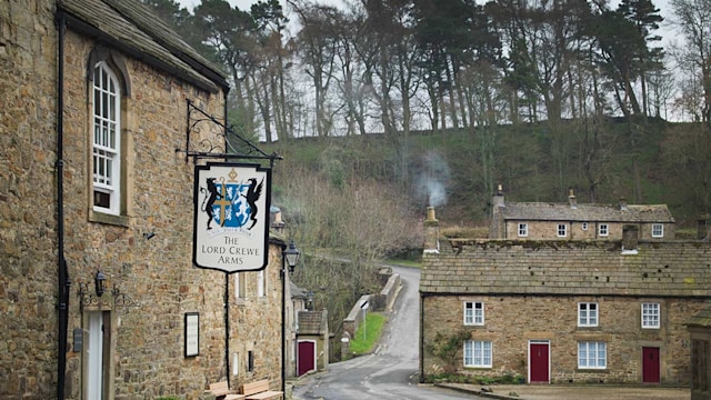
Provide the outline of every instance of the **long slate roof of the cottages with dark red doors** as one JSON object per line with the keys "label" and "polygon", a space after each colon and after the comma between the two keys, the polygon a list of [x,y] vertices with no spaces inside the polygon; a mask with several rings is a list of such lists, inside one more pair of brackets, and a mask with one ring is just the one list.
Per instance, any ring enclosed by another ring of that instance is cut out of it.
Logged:
{"label": "long slate roof of the cottages with dark red doors", "polygon": [[423,254],[423,294],[711,298],[711,242],[451,240]]}

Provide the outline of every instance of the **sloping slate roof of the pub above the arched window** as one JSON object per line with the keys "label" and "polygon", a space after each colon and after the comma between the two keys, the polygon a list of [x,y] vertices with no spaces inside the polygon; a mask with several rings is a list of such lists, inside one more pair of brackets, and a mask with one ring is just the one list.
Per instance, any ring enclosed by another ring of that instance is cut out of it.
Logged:
{"label": "sloping slate roof of the pub above the arched window", "polygon": [[229,89],[224,73],[138,0],[58,0],[57,7],[72,30],[203,90],[217,92]]}

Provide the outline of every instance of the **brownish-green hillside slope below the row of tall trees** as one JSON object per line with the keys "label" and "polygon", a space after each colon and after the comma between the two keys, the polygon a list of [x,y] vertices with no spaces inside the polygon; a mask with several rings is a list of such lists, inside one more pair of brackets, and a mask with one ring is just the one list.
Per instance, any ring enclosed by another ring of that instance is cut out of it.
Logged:
{"label": "brownish-green hillside slope below the row of tall trees", "polygon": [[397,189],[397,200],[415,217],[434,206],[443,224],[485,224],[491,196],[502,184],[512,201],[567,201],[573,189],[579,202],[667,203],[684,227],[710,211],[710,142],[700,124],[612,119],[262,147],[284,157],[274,169],[277,186],[293,170],[331,184],[380,182]]}

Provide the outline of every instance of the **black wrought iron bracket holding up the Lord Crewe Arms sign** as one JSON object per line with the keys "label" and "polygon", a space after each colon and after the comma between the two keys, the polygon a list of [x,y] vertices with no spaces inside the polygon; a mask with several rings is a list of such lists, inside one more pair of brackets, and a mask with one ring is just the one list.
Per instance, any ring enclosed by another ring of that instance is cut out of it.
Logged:
{"label": "black wrought iron bracket holding up the Lord Crewe Arms sign", "polygon": [[[239,150],[237,149],[239,147]],[[277,153],[268,154],[240,134],[234,127],[228,127],[210,116],[188,99],[188,126],[186,128],[186,148],[176,149],[186,154],[186,162],[192,157],[199,159],[257,159],[274,160],[283,158]]]}

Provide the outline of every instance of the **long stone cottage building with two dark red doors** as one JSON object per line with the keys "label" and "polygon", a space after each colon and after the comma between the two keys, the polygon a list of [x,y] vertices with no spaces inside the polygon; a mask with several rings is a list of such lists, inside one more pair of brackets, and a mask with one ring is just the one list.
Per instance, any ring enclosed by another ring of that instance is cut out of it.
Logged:
{"label": "long stone cottage building with two dark red doors", "polygon": [[[684,324],[711,300],[711,242],[438,240],[425,221],[420,376],[689,384]],[[700,236],[707,237],[707,236]]]}

